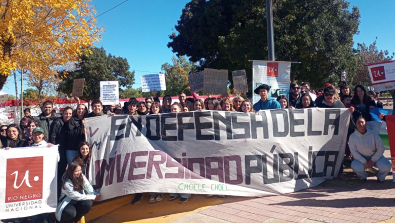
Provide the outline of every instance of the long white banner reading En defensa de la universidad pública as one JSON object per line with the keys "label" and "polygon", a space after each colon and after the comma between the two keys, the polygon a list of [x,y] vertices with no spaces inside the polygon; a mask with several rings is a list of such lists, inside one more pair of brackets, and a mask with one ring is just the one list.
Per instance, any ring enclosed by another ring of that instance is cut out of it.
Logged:
{"label": "long white banner reading En defensa de la universidad p\u00fablica", "polygon": [[103,199],[290,193],[338,175],[349,116],[312,108],[88,118],[87,177]]}

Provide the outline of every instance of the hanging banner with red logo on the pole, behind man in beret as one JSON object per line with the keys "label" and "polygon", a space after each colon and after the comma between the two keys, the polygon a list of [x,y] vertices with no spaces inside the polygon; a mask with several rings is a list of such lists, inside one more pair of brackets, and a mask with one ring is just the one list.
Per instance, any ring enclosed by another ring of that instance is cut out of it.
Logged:
{"label": "hanging banner with red logo on the pole, behind man in beret", "polygon": [[291,62],[273,62],[253,60],[252,62],[252,102],[261,99],[253,90],[262,84],[271,86],[269,98],[276,99],[280,95],[289,97],[291,81]]}

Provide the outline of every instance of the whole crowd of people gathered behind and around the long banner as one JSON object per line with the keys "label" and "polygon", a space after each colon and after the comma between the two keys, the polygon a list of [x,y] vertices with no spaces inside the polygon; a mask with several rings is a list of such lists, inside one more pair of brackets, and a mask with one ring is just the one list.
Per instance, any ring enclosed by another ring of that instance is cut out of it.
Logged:
{"label": "whole crowd of people gathered behind and around the long banner", "polygon": [[[331,84],[325,84],[320,91],[310,89],[307,82],[290,85],[290,95],[287,98],[280,95],[270,98],[270,86],[260,85],[254,89],[259,94],[259,102],[252,104],[245,93],[230,98],[222,95],[220,98],[208,97],[204,100],[196,93],[187,97],[181,92],[179,102],[172,103],[170,95],[165,95],[160,102],[157,91],[153,97],[146,97],[139,102],[130,98],[121,105],[103,106],[100,99],[91,102],[92,112],[84,104],[78,103],[76,108],[66,107],[62,114],[53,110],[53,103],[46,101],[41,109],[42,113],[36,117],[30,115],[30,109],[24,110],[24,117],[19,125],[11,124],[0,127],[0,146],[5,150],[19,147],[51,147],[59,145],[58,152],[58,207],[55,218],[58,222],[76,222],[89,212],[92,201],[100,200],[86,177],[87,166],[90,163],[91,147],[85,138],[86,118],[102,115],[151,115],[170,112],[188,111],[235,111],[258,112],[266,109],[306,109],[306,108],[349,108],[351,121],[347,134],[344,164],[350,164],[352,170],[361,180],[366,180],[365,169],[376,167],[377,177],[383,182],[391,169],[391,164],[383,156],[384,145],[379,135],[367,129],[366,123],[372,119],[369,109],[381,107],[377,100],[378,93],[367,92],[362,85],[351,90],[347,84],[338,89]],[[380,114],[385,120],[385,115]],[[339,178],[347,179],[343,174],[343,165],[339,171]],[[208,195],[208,197],[211,195]],[[132,204],[137,204],[142,194],[136,194]],[[159,202],[165,197],[164,193],[149,193],[149,203]],[[191,194],[170,194],[169,200],[179,198],[179,202],[186,202]],[[31,216],[32,222],[49,222],[51,214]],[[25,218],[26,219],[26,218]],[[9,219],[8,222],[22,222],[25,219]],[[3,220],[7,222],[6,220]]]}

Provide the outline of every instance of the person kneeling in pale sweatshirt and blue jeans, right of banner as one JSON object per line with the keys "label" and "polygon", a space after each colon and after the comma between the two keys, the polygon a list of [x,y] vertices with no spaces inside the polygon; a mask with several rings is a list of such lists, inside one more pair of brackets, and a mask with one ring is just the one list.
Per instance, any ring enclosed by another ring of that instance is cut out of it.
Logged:
{"label": "person kneeling in pale sweatshirt and blue jeans, right of banner", "polygon": [[366,180],[365,169],[373,166],[378,168],[377,180],[384,182],[385,176],[391,170],[391,163],[383,156],[384,144],[380,136],[366,128],[364,117],[356,119],[357,131],[350,135],[349,147],[354,160],[351,169],[361,180]]}

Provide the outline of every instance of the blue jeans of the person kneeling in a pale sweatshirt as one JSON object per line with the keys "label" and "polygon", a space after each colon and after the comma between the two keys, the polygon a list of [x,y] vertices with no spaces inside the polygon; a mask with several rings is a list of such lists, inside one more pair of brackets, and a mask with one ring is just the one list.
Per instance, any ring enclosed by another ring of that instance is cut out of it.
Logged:
{"label": "blue jeans of the person kneeling in a pale sweatshirt", "polygon": [[[369,156],[363,156],[367,161],[371,159]],[[384,156],[381,156],[379,160],[376,161],[373,165],[374,167],[379,168],[379,171],[377,171],[377,179],[380,181],[385,180],[385,176],[387,176],[388,172],[391,170],[392,165],[389,163],[388,159],[386,159]],[[354,159],[351,163],[351,169],[354,171],[354,173],[357,174],[357,176],[360,179],[366,179],[368,174],[365,172],[365,166],[358,161],[357,159]]]}

